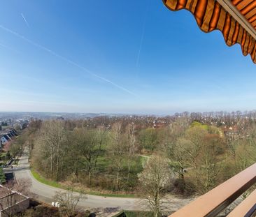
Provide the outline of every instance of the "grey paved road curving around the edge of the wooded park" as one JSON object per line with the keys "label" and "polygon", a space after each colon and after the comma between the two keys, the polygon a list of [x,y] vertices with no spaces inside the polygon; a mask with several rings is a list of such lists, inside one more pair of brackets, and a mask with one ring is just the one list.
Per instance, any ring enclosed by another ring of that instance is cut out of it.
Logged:
{"label": "grey paved road curving around the edge of the wooded park", "polygon": [[[29,169],[29,152],[28,149],[24,149],[24,153],[20,157],[17,166],[5,168],[5,172],[14,172],[17,182],[21,179],[29,179],[31,181],[30,192],[36,195],[38,200],[51,204],[54,200],[53,197],[57,191],[66,192],[61,188],[55,188],[52,186],[45,185],[37,181],[31,174]],[[74,193],[78,195],[78,193]],[[145,201],[138,198],[124,198],[124,197],[102,197],[97,195],[85,195],[85,200],[80,200],[78,202],[78,207],[82,209],[104,209],[107,210],[145,210]],[[178,198],[174,195],[169,195],[166,198],[168,202],[168,210],[176,211],[180,207],[185,206],[185,204],[191,202],[192,198]],[[100,215],[104,216],[104,215]]]}

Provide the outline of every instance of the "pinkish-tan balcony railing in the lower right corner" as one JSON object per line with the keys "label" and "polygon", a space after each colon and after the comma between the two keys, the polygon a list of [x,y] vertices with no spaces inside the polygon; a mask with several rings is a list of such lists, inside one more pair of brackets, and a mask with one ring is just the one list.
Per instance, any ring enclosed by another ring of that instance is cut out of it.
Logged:
{"label": "pinkish-tan balcony railing in the lower right corner", "polygon": [[[216,216],[237,197],[256,183],[256,163],[220,184],[208,193],[201,195],[187,206],[179,209],[169,217],[202,217]],[[256,190],[250,193],[228,216],[250,217],[256,210]]]}

